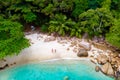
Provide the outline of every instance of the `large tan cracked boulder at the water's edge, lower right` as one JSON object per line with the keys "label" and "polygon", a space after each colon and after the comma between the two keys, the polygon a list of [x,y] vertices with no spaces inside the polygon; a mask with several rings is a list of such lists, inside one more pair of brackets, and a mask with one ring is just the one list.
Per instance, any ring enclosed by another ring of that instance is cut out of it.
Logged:
{"label": "large tan cracked boulder at the water's edge, lower right", "polygon": [[101,71],[107,75],[114,76],[114,70],[109,62],[102,65]]}

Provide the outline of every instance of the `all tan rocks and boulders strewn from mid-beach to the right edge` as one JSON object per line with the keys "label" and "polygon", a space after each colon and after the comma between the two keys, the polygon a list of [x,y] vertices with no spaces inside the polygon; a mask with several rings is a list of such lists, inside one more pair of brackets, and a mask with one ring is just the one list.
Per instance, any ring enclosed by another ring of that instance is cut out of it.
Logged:
{"label": "all tan rocks and boulders strewn from mid-beach to the right edge", "polygon": [[[56,39],[60,44],[71,42],[71,45],[67,50],[69,50],[70,47],[73,47],[73,52],[77,53],[78,57],[88,57],[92,62],[101,65],[100,67],[96,66],[96,71],[100,70],[109,76],[120,76],[120,55],[109,50],[104,42],[99,44],[94,41],[83,41],[75,37],[56,37]],[[56,39],[50,37],[47,39],[47,42],[54,41]]]}

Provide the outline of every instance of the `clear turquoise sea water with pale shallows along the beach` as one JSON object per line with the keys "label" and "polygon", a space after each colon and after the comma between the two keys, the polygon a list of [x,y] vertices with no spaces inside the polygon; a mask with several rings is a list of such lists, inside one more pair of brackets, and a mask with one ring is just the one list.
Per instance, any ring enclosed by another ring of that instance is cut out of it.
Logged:
{"label": "clear turquoise sea water with pale shallows along the beach", "polygon": [[0,71],[0,80],[114,80],[95,71],[89,61],[56,60],[28,63]]}

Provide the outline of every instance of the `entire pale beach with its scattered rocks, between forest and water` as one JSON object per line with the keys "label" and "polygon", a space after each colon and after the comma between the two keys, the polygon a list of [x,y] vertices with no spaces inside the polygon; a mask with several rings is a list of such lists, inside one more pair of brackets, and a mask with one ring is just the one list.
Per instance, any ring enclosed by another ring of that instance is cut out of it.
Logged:
{"label": "entire pale beach with its scattered rocks, between forest and water", "polygon": [[[42,33],[27,34],[31,46],[22,50],[19,55],[8,56],[5,58],[5,63],[8,66],[15,66],[26,64],[29,62],[56,60],[56,59],[73,59],[91,61],[96,64],[96,69],[102,70],[103,73],[114,76],[112,66],[106,66],[109,62],[110,50],[95,47],[87,40],[69,37],[55,37]],[[80,52],[81,51],[81,52]],[[102,57],[102,58],[101,58]],[[98,66],[98,64],[105,64],[105,67]],[[101,67],[101,69],[99,68]],[[106,67],[110,71],[106,71]]]}

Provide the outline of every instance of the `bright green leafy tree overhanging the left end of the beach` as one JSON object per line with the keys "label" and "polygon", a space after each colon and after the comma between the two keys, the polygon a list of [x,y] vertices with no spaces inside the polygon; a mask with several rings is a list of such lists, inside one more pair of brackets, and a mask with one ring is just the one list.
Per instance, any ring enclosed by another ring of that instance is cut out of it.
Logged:
{"label": "bright green leafy tree overhanging the left end of the beach", "polygon": [[0,58],[18,54],[29,46],[21,29],[22,25],[18,22],[0,20]]}

